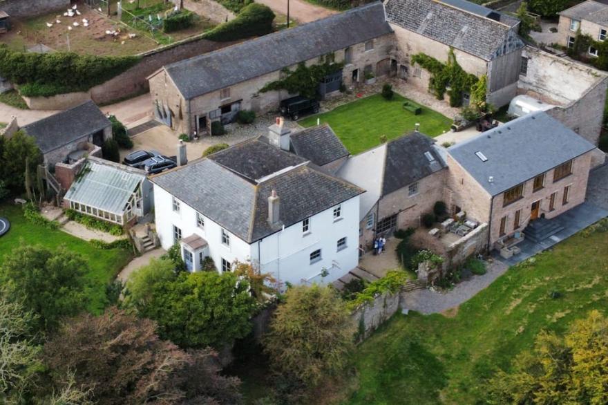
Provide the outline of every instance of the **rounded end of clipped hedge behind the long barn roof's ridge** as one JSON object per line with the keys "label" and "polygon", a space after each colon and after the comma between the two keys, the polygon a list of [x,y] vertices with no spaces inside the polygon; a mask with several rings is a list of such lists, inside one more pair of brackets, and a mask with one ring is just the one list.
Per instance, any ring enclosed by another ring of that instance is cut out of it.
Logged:
{"label": "rounded end of clipped hedge behind the long barn roof's ridge", "polygon": [[236,41],[237,39],[266,35],[272,32],[274,12],[267,6],[251,3],[227,23],[213,28],[206,39],[211,41]]}

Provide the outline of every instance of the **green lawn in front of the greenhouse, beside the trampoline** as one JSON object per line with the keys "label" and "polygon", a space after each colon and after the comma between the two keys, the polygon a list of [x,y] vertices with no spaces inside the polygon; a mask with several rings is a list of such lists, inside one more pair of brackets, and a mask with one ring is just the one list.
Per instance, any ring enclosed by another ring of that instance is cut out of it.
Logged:
{"label": "green lawn in front of the greenhouse, beside the trampoline", "polygon": [[91,272],[91,305],[89,310],[99,313],[106,305],[106,285],[129,263],[133,252],[126,249],[97,249],[86,241],[68,235],[63,231],[52,231],[26,221],[21,207],[0,205],[0,216],[10,220],[10,231],[0,237],[0,261],[12,249],[23,244],[42,245],[55,249],[61,245],[70,251],[82,254],[88,262]]}

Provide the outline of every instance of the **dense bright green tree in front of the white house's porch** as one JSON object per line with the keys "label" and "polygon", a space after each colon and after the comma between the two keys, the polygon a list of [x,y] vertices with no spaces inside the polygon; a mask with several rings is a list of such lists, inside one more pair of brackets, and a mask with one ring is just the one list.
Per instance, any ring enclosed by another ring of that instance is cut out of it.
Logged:
{"label": "dense bright green tree in front of the white house's porch", "polygon": [[[247,336],[256,308],[249,283],[236,274],[146,269],[127,283],[129,304],[158,322],[158,334],[182,348],[222,348]],[[134,288],[131,291],[131,288]]]}

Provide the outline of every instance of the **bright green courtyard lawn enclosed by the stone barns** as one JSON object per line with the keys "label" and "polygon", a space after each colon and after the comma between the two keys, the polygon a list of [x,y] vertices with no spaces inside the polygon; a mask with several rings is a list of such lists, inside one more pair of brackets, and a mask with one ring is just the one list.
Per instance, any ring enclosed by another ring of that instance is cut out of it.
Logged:
{"label": "bright green courtyard lawn enclosed by the stone barns", "polygon": [[379,94],[372,95],[327,113],[312,115],[299,124],[313,126],[316,125],[317,118],[320,118],[321,123],[330,124],[352,154],[380,144],[381,135],[386,135],[390,140],[413,131],[417,122],[420,123],[420,131],[429,136],[441,135],[450,130],[452,120],[448,117],[425,106],[422,106],[420,115],[414,115],[403,109],[406,100],[397,93],[391,101],[384,100]]}

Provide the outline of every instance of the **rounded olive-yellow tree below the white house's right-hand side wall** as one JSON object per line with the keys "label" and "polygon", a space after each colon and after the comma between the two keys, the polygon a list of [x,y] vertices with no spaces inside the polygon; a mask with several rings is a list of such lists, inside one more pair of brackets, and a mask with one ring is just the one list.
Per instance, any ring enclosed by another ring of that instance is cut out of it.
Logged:
{"label": "rounded olive-yellow tree below the white house's right-hand side wall", "polygon": [[287,290],[274,312],[264,350],[279,374],[315,386],[346,366],[354,332],[350,312],[334,290],[299,286]]}

